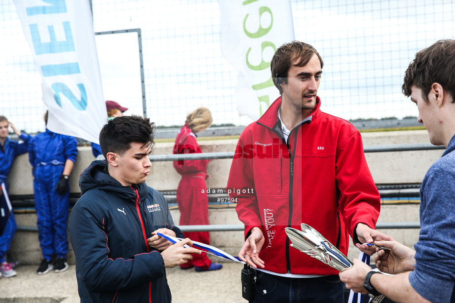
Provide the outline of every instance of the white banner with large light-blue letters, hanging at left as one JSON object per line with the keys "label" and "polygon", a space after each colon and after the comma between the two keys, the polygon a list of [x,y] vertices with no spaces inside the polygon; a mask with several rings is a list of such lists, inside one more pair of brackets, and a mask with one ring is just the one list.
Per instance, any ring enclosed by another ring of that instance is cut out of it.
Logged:
{"label": "white banner with large light-blue letters, hanging at left", "polygon": [[89,0],[13,0],[43,77],[47,128],[98,143],[106,123]]}

